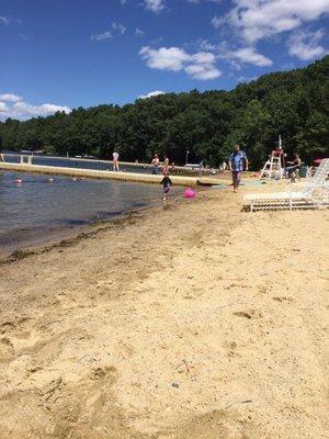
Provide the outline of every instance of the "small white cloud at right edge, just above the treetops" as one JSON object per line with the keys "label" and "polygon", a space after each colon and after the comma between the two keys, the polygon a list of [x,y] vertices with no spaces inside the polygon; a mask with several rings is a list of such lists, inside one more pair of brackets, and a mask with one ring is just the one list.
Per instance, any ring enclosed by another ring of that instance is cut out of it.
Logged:
{"label": "small white cloud at right edge, just above the treetops", "polygon": [[287,43],[290,55],[296,56],[305,61],[324,56],[327,50],[319,45],[324,35],[324,31],[298,31],[292,34]]}

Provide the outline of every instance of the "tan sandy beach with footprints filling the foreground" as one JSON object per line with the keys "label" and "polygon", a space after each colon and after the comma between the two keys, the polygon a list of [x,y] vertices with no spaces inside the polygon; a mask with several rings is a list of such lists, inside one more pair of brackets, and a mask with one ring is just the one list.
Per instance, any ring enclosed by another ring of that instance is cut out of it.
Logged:
{"label": "tan sandy beach with footprints filling the foreground", "polygon": [[328,438],[328,221],[213,190],[1,264],[0,438]]}

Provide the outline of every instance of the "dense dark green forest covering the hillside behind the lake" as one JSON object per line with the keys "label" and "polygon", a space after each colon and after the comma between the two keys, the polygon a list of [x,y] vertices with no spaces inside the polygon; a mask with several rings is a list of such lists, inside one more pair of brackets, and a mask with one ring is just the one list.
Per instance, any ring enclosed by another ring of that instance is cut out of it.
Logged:
{"label": "dense dark green forest covering the hillside behind the lake", "polygon": [[137,99],[123,106],[77,108],[29,121],[0,122],[0,149],[218,166],[238,143],[258,168],[281,134],[288,156],[310,162],[328,155],[329,56],[309,66],[264,75],[234,90],[192,90]]}

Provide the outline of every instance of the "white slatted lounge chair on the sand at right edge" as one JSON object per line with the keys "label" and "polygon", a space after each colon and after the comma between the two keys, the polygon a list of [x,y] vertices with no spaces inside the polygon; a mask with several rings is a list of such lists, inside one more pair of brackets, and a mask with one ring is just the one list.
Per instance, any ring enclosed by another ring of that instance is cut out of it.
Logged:
{"label": "white slatted lounge chair on the sand at right edge", "polygon": [[[326,182],[329,173],[329,159],[324,159],[314,177],[310,177],[303,188],[290,185],[287,191],[275,193],[249,193],[243,196],[243,205],[250,211],[280,209],[316,209],[329,205],[329,184]],[[300,184],[298,184],[300,187]]]}

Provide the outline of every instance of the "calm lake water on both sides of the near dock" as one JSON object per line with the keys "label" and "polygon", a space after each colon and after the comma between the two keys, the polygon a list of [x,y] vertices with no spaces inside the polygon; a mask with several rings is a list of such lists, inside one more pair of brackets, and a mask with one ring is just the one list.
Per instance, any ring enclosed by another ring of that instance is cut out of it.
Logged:
{"label": "calm lake water on both sides of the near dock", "polygon": [[[5,156],[5,159],[18,161],[19,157]],[[109,167],[98,161],[45,157],[35,157],[33,162],[103,170]],[[134,171],[149,172],[143,168]],[[22,179],[22,183],[16,183],[16,179]],[[68,177],[0,171],[0,254],[43,244],[78,226],[154,205],[160,196],[161,188],[157,184],[75,181]]]}

